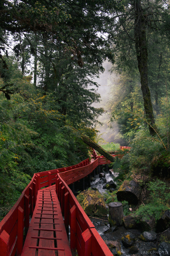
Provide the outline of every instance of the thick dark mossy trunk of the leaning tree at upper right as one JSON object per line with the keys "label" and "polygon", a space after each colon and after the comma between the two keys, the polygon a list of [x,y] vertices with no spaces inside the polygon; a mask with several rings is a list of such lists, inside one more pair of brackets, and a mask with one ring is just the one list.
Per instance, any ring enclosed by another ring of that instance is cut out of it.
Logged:
{"label": "thick dark mossy trunk of the leaning tree at upper right", "polygon": [[134,0],[134,7],[136,13],[134,25],[135,48],[140,73],[141,90],[149,131],[153,136],[156,134],[156,126],[153,116],[151,94],[148,86],[148,49],[146,39],[147,16],[142,11],[140,0]]}

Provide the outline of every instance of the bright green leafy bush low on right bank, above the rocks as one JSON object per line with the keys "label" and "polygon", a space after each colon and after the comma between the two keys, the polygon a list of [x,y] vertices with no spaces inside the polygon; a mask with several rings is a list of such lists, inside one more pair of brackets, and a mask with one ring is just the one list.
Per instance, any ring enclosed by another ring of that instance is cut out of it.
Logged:
{"label": "bright green leafy bush low on right bank, above the rocks", "polygon": [[163,211],[169,209],[170,192],[166,183],[158,179],[148,183],[148,190],[150,191],[150,202],[146,205],[140,205],[135,215],[144,218],[154,216],[158,220]]}

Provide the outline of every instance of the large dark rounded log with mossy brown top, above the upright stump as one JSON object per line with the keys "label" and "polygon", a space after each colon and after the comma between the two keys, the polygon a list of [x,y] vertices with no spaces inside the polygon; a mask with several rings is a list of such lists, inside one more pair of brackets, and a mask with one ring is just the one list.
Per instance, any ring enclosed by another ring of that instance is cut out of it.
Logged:
{"label": "large dark rounded log with mossy brown top, above the upright stump", "polygon": [[117,191],[118,201],[128,201],[129,204],[138,204],[141,187],[135,181],[124,181]]}

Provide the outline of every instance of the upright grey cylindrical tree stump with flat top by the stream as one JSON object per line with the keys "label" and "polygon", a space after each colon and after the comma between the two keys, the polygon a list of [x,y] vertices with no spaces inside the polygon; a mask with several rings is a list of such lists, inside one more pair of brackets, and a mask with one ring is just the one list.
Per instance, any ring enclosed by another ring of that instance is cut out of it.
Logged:
{"label": "upright grey cylindrical tree stump with flat top by the stream", "polygon": [[108,204],[110,226],[121,226],[123,223],[122,203],[112,202]]}

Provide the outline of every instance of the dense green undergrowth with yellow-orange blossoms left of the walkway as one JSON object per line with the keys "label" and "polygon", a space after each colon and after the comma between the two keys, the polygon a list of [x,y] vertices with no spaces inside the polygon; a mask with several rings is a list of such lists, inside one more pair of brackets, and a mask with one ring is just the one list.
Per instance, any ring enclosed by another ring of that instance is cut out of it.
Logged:
{"label": "dense green undergrowth with yellow-orange blossoms left of the walkway", "polygon": [[[60,112],[54,92],[36,88],[17,64],[0,63],[0,87],[10,84],[7,100],[0,92],[0,219],[11,209],[34,173],[71,166],[89,157],[80,133],[94,138],[96,131]],[[6,87],[7,88],[7,87]],[[72,116],[73,118],[73,116]],[[85,117],[84,117],[85,118]],[[79,131],[78,131],[79,130]]]}

